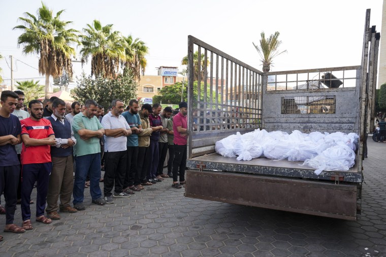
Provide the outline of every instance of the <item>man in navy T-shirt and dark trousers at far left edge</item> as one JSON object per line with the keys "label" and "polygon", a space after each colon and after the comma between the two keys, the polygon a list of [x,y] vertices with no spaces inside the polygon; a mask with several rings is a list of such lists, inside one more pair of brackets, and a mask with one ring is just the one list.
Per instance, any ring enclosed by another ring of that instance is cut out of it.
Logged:
{"label": "man in navy T-shirt and dark trousers at far left edge", "polygon": [[[18,95],[6,90],[1,95],[0,108],[0,192],[6,196],[6,227],[4,232],[23,233],[25,230],[13,224],[20,162],[15,145],[21,142],[19,119],[11,115],[17,105]],[[3,237],[0,236],[0,241]]]}

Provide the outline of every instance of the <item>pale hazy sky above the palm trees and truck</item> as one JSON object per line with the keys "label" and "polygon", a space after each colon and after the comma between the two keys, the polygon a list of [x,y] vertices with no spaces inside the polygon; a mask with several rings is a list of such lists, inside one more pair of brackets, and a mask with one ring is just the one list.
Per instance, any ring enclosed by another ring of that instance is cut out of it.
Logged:
{"label": "pale hazy sky above the palm trees and truck", "polygon": [[[69,28],[82,30],[94,19],[127,36],[140,38],[149,47],[145,74],[157,75],[156,67],[186,68],[187,36],[262,70],[258,52],[260,33],[280,32],[281,50],[271,71],[360,65],[366,9],[371,9],[370,25],[381,31],[382,0],[45,0],[62,20],[73,21]],[[10,85],[10,55],[14,58],[14,79],[40,80],[38,56],[22,53],[17,38],[24,12],[36,14],[40,0],[0,0],[0,60],[5,84]],[[381,35],[382,36],[382,35]],[[382,39],[382,37],[381,37]],[[76,49],[78,52],[80,47]],[[73,63],[74,75],[90,74],[90,65]],[[70,87],[76,84],[70,85]]]}

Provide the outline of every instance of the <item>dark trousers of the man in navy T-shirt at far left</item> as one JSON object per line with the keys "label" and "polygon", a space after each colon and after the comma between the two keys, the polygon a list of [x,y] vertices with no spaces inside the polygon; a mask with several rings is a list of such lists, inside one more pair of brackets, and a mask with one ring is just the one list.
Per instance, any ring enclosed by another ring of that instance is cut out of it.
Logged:
{"label": "dark trousers of the man in navy T-shirt at far left", "polygon": [[6,199],[6,225],[13,224],[17,202],[20,165],[0,167],[0,192]]}

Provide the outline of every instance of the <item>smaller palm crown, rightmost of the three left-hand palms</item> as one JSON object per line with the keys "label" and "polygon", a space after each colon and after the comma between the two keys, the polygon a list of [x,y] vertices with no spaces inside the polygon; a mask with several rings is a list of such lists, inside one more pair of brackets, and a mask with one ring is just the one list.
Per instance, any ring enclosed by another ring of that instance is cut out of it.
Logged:
{"label": "smaller palm crown, rightmost of the three left-hand palms", "polygon": [[139,38],[133,40],[132,35],[127,37],[123,36],[125,41],[125,60],[122,60],[122,64],[126,68],[130,68],[133,71],[134,77],[140,81],[141,74],[145,75],[145,69],[147,60],[145,55],[148,54],[149,48],[145,45],[145,42]]}

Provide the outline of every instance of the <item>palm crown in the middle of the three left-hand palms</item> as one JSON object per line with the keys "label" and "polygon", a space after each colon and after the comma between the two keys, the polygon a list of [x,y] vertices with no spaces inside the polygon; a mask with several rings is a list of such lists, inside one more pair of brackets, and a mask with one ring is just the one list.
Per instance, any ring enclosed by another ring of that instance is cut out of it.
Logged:
{"label": "palm crown in the middle of the three left-hand palms", "polygon": [[91,76],[115,78],[119,62],[125,60],[125,45],[119,31],[113,31],[113,24],[102,26],[99,20],[87,24],[81,35],[83,45],[80,50],[82,65],[91,56]]}

